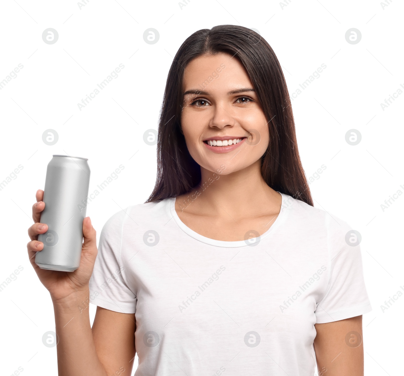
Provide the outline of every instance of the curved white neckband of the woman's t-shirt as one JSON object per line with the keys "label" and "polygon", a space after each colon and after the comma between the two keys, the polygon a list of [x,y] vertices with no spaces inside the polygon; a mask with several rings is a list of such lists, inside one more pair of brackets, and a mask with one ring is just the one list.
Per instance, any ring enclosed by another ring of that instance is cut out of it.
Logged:
{"label": "curved white neckband of the woman's t-shirt", "polygon": [[[267,231],[265,231],[265,233],[263,233],[259,237],[259,241],[261,241],[262,239],[267,237],[269,234],[273,233],[285,216],[285,213],[284,213],[286,211],[285,210],[285,201],[287,200],[287,198],[289,196],[284,193],[281,193],[279,191],[277,191],[277,192],[282,195],[282,203],[281,203],[280,212],[279,212],[278,216],[276,217],[275,222],[272,223],[271,227],[269,227],[269,229]],[[181,219],[179,218],[177,212],[175,211],[175,197],[170,197],[169,200],[170,200],[170,214],[173,216],[175,223],[177,223],[178,227],[182,231],[184,231],[185,233],[187,233],[187,235],[193,237],[194,239],[199,240],[202,243],[210,244],[211,246],[226,247],[226,248],[236,248],[236,247],[244,247],[244,246],[250,245],[249,243],[245,242],[244,240],[237,240],[235,242],[227,242],[224,240],[211,239],[210,237],[206,237],[206,236],[198,234],[194,230],[190,229],[187,225],[185,225],[185,223],[183,223],[181,221]],[[288,206],[286,206],[286,207],[288,207]],[[253,239],[257,239],[257,238],[253,238]],[[250,239],[250,240],[252,240],[252,239]]]}

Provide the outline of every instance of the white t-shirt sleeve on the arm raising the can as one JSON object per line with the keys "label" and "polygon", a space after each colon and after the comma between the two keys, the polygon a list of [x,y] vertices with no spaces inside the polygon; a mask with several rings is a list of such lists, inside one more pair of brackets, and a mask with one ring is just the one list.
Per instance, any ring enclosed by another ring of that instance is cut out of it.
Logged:
{"label": "white t-shirt sleeve on the arm raising the can", "polygon": [[136,312],[136,295],[125,281],[125,267],[120,259],[124,210],[105,223],[99,238],[98,253],[90,278],[90,303],[121,313]]}

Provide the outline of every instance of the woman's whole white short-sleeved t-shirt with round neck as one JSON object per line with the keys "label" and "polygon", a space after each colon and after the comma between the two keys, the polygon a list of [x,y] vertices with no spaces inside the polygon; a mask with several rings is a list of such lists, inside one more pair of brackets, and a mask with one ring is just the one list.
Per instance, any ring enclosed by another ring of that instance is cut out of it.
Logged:
{"label": "woman's whole white short-sleeved t-shirt with round neck", "polygon": [[314,324],[371,311],[360,234],[341,219],[282,194],[261,237],[224,242],[174,203],[114,214],[90,279],[90,302],[136,313],[135,375],[313,376]]}

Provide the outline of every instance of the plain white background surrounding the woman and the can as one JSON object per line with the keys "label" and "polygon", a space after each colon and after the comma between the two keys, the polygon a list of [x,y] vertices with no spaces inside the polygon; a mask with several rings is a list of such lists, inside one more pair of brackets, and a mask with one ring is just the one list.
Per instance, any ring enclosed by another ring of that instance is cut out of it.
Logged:
{"label": "plain white background surrounding the woman and the can", "polygon": [[[401,372],[404,297],[381,310],[404,288],[404,195],[381,209],[393,193],[404,193],[404,94],[381,107],[404,85],[403,4],[389,3],[191,0],[181,9],[177,1],[91,0],[80,9],[75,1],[2,1],[0,81],[18,64],[23,69],[0,90],[0,181],[20,164],[23,169],[0,191],[0,283],[19,265],[23,271],[0,292],[1,374],[19,366],[23,375],[57,374],[56,347],[42,344],[42,335],[55,330],[53,306],[26,250],[31,206],[36,190],[44,188],[52,154],[88,158],[90,192],[124,165],[88,205],[98,235],[112,214],[144,202],[154,187],[156,146],[146,145],[143,133],[157,129],[170,64],[190,34],[219,24],[259,30],[283,67],[290,94],[326,65],[292,101],[299,151],[308,178],[326,165],[310,185],[315,206],[362,234],[373,308],[363,317],[365,374]],[[50,27],[59,33],[55,44],[42,40]],[[152,45],[143,40],[150,27],[160,33]],[[345,40],[353,27],[362,34],[358,44]],[[120,63],[118,78],[80,111],[82,98]],[[59,134],[53,146],[42,142],[48,128]],[[356,146],[345,141],[352,128],[362,134]],[[91,321],[94,314],[90,305]]]}

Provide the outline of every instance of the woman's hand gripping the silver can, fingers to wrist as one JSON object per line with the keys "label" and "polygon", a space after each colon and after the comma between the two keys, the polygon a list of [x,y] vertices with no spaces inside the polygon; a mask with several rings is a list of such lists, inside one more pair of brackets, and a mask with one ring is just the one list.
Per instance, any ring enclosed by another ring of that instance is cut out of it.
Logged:
{"label": "woman's hand gripping the silver can, fingers to wrist", "polygon": [[44,244],[38,241],[38,234],[43,234],[48,230],[48,226],[44,223],[39,223],[42,210],[45,208],[45,203],[42,201],[44,191],[38,189],[36,192],[36,204],[32,206],[32,219],[34,225],[29,227],[28,235],[31,239],[27,244],[28,256],[31,261],[38,278],[50,292],[52,300],[60,301],[88,290],[88,282],[90,281],[95,258],[97,256],[97,241],[96,231],[91,225],[90,217],[83,220],[83,235],[84,244],[80,259],[80,266],[73,272],[54,271],[40,269],[35,263],[36,252],[40,252],[44,248]]}

